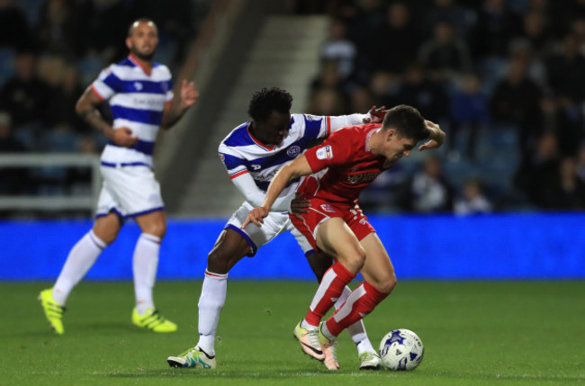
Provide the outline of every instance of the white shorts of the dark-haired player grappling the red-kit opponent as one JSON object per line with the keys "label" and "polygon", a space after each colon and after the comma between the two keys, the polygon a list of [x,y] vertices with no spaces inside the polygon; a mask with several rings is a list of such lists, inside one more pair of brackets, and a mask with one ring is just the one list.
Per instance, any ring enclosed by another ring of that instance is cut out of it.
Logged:
{"label": "white shorts of the dark-haired player grappling the red-kit opponent", "polygon": [[242,203],[242,205],[238,208],[238,211],[235,211],[234,214],[231,215],[231,218],[228,220],[228,223],[225,226],[225,228],[235,230],[247,240],[247,243],[252,248],[252,252],[250,252],[247,256],[256,255],[259,247],[264,246],[268,241],[272,240],[286,230],[291,231],[305,255],[307,255],[308,252],[313,251],[313,247],[311,247],[311,244],[309,241],[307,241],[307,238],[305,238],[301,232],[294,228],[293,223],[288,216],[288,212],[271,211],[268,216],[266,216],[266,219],[264,219],[264,224],[262,224],[262,227],[257,227],[256,224],[250,223],[247,224],[245,229],[239,229],[244,221],[246,221],[247,213],[252,209],[254,209],[254,207],[248,202]]}

